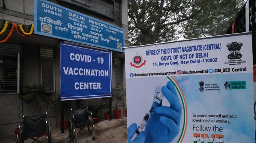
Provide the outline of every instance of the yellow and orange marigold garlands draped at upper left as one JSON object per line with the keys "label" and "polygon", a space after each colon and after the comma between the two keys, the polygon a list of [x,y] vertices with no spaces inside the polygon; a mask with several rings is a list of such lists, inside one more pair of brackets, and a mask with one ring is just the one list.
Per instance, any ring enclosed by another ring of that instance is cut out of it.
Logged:
{"label": "yellow and orange marigold garlands draped at upper left", "polygon": [[21,36],[27,37],[33,34],[34,31],[34,24],[31,24],[29,26],[25,25],[19,25],[17,26],[16,23],[11,23],[7,20],[0,20],[2,25],[2,30],[0,31],[0,43],[6,42],[9,40],[11,35],[13,34],[13,30],[16,29],[17,33]]}

